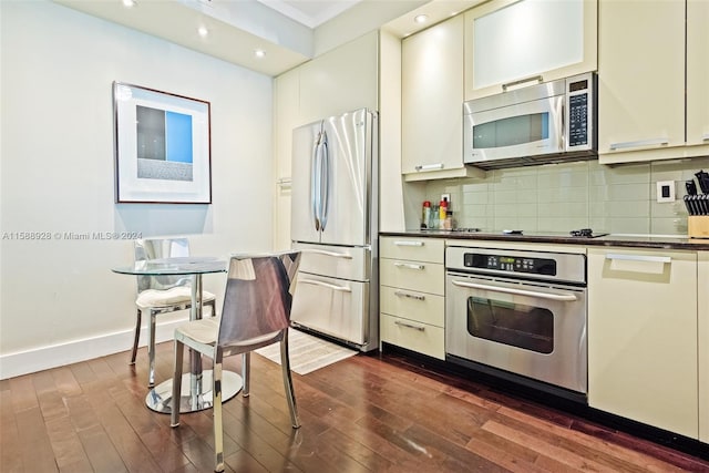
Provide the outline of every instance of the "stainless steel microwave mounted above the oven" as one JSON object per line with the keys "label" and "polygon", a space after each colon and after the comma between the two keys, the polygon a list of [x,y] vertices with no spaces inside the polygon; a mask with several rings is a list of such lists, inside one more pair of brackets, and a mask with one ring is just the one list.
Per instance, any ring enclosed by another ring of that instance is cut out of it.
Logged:
{"label": "stainless steel microwave mounted above the oven", "polygon": [[465,102],[463,162],[500,168],[597,156],[596,83],[586,73]]}

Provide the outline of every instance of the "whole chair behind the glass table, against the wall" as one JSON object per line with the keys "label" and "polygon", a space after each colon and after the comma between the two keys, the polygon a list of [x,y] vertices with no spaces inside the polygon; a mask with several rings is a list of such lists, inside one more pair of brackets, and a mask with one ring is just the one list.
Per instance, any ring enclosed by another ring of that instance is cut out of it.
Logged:
{"label": "whole chair behind the glass table, against the wall", "polygon": [[[187,238],[145,238],[135,240],[135,263],[150,259],[187,257],[189,241]],[[215,315],[216,297],[207,291],[202,292],[202,304],[212,308]],[[147,385],[155,385],[155,318],[161,313],[174,312],[192,308],[191,276],[137,276],[137,316],[131,364],[135,363],[137,346],[141,338],[143,315],[150,317],[147,323]]]}

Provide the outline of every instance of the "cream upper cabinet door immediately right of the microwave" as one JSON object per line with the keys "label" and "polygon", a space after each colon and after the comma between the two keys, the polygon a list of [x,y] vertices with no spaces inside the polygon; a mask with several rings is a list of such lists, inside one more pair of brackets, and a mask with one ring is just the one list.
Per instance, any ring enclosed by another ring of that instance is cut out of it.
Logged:
{"label": "cream upper cabinet door immediately right of the microwave", "polygon": [[598,132],[602,162],[684,146],[684,1],[600,1]]}

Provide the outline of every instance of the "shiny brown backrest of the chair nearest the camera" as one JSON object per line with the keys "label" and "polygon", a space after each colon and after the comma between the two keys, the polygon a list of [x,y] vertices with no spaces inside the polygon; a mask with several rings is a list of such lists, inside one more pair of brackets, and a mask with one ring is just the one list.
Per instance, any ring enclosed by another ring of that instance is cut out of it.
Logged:
{"label": "shiny brown backrest of the chair nearest the camera", "polygon": [[217,343],[275,336],[290,323],[300,251],[233,256]]}

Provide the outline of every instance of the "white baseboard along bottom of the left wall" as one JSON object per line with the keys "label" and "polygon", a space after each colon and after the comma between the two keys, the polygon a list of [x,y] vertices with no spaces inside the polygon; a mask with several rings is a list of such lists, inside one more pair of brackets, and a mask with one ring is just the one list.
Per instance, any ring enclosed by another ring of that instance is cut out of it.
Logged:
{"label": "white baseboard along bottom of the left wall", "polygon": [[[172,340],[175,327],[187,320],[188,319],[185,318],[157,323],[155,342],[160,343]],[[0,380],[105,357],[121,351],[126,352],[127,362],[130,357],[129,351],[133,347],[133,330],[125,330],[90,339],[74,340],[66,343],[2,354],[0,356]],[[146,343],[147,332],[145,327],[143,327],[141,331],[141,347],[145,347]]]}

